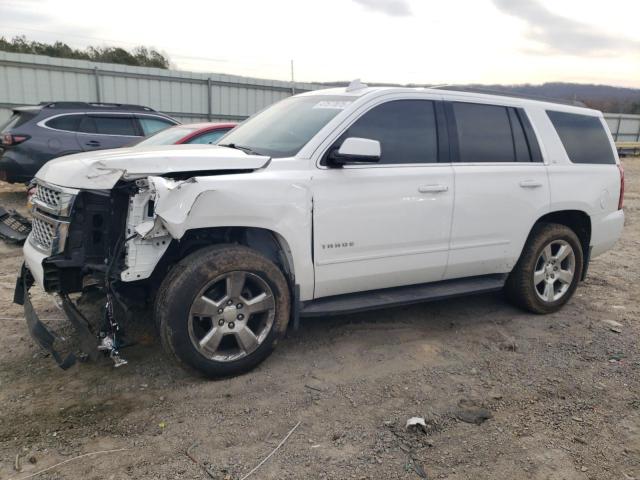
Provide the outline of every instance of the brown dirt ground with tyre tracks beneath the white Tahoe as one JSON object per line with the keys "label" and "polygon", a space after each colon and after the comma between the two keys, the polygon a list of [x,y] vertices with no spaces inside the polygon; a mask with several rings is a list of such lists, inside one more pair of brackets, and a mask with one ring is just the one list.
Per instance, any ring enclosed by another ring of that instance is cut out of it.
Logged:
{"label": "brown dirt ground with tyre tracks beneath the white Tahoe", "polygon": [[223,381],[175,367],[151,327],[125,367],[58,369],[11,303],[21,251],[0,242],[0,478],[124,449],[38,478],[236,480],[300,422],[251,479],[640,479],[640,158],[624,164],[624,236],[561,312],[495,294],[303,319]]}

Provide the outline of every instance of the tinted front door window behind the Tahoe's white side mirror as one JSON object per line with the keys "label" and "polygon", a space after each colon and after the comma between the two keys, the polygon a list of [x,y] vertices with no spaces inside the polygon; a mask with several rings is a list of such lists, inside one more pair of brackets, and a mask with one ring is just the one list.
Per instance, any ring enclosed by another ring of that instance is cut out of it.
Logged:
{"label": "tinted front door window behind the Tahoe's white side mirror", "polygon": [[369,110],[342,134],[337,145],[349,137],[378,140],[382,164],[435,163],[438,134],[433,102],[396,100]]}

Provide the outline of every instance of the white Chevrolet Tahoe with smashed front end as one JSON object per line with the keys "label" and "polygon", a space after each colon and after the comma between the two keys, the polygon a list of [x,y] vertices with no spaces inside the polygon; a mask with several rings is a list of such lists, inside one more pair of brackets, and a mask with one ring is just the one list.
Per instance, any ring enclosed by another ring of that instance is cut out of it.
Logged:
{"label": "white Chevrolet Tahoe with smashed front end", "polygon": [[[504,289],[558,310],[620,237],[624,179],[600,112],[447,89],[287,98],[222,146],[83,153],[37,174],[15,301],[56,294],[89,356],[116,362],[147,302],[165,349],[209,377],[245,372],[300,316]],[[71,301],[104,295],[88,320]],[[393,339],[389,339],[393,341]]]}

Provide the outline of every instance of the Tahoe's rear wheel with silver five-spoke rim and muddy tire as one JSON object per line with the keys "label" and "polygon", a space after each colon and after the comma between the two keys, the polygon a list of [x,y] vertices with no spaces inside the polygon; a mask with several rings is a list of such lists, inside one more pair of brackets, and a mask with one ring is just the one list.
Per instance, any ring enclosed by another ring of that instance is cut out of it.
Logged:
{"label": "Tahoe's rear wheel with silver five-spoke rim and muddy tire", "polygon": [[578,286],[583,270],[578,236],[565,225],[536,225],[505,284],[507,298],[533,313],[558,311]]}

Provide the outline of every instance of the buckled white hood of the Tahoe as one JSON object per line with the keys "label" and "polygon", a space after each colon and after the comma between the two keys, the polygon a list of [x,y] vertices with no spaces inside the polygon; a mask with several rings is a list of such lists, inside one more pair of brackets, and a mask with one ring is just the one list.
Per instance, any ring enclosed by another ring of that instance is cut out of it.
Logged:
{"label": "buckled white hood of the Tahoe", "polygon": [[121,178],[214,170],[255,170],[270,158],[213,145],[115,148],[77,153],[44,164],[36,178],[54,185],[110,189]]}

